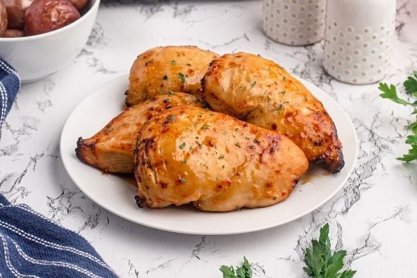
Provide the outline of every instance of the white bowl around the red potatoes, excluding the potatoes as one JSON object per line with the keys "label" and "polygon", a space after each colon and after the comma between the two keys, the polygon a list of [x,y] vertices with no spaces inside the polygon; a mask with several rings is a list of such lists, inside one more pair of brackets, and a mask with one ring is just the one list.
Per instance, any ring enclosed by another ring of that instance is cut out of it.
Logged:
{"label": "white bowl around the red potatoes, excluding the potatoes", "polygon": [[22,38],[0,38],[0,58],[19,72],[23,83],[43,79],[69,64],[83,49],[100,0],[90,0],[81,18],[55,31]]}

